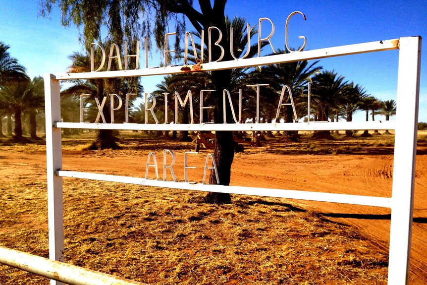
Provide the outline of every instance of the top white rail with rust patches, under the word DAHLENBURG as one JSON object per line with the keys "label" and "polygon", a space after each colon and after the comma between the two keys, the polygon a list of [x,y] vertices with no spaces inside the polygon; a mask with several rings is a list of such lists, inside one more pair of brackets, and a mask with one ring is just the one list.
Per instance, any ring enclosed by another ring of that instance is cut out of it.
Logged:
{"label": "top white rail with rust patches, under the word DAHLENBURG", "polygon": [[377,41],[363,44],[324,48],[290,54],[278,54],[266,57],[254,57],[228,61],[215,61],[200,65],[153,67],[135,70],[81,72],[81,73],[54,73],[52,79],[92,79],[115,77],[139,77],[150,75],[166,75],[195,71],[212,71],[250,66],[268,65],[276,63],[293,62],[298,60],[320,59],[327,57],[339,57],[355,54],[373,53],[399,49],[399,39]]}

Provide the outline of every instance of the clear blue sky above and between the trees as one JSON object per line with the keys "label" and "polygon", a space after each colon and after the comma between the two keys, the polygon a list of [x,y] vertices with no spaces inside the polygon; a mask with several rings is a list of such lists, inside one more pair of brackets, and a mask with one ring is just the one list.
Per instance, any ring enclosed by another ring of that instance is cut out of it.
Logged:
{"label": "clear blue sky above and between the trees", "polygon": [[[195,1],[197,2],[197,1]],[[274,48],[284,49],[285,21],[293,11],[289,26],[289,45],[302,45],[298,36],[307,38],[306,50],[343,46],[407,36],[426,37],[427,2],[414,1],[283,1],[283,0],[228,0],[226,13],[233,18],[246,18],[251,26],[261,17],[270,18],[275,25],[271,39]],[[38,17],[37,0],[0,1],[0,41],[10,46],[9,52],[26,66],[30,77],[44,73],[64,72],[71,61],[68,56],[80,52],[79,31],[60,25],[59,10],[54,9],[50,19]],[[190,25],[188,30],[192,30]],[[269,33],[268,22],[263,31]],[[267,36],[264,34],[263,36]],[[142,39],[141,39],[142,42]],[[270,48],[266,47],[266,53]],[[143,54],[143,53],[142,53]],[[153,55],[150,66],[158,65],[160,57]],[[143,58],[141,58],[143,61]],[[427,43],[423,44],[419,121],[427,122]],[[336,57],[320,60],[327,70],[335,70],[365,87],[366,91],[381,99],[396,99],[398,52]],[[144,78],[146,92],[154,90],[162,77]],[[262,83],[262,82],[260,82]],[[355,120],[364,119],[363,112]],[[376,119],[381,119],[378,116]]]}

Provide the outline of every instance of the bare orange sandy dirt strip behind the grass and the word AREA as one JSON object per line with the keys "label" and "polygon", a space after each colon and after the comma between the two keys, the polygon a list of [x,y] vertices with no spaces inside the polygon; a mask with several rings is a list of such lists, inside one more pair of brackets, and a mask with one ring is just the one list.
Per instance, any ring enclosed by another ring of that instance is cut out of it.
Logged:
{"label": "bare orange sandy dirt strip behind the grass and the word AREA", "polygon": [[[189,178],[200,181],[207,151],[189,156],[189,165],[198,169],[189,172]],[[92,171],[117,175],[144,177],[148,151],[82,152],[64,151],[63,169]],[[156,151],[162,178],[162,152]],[[22,173],[28,175],[32,168],[46,168],[45,152],[11,152],[0,149],[0,157],[10,164],[21,164]],[[175,174],[184,178],[184,155],[176,152]],[[236,154],[232,166],[232,185],[280,189],[335,192],[368,196],[391,196],[392,152],[353,155],[277,155],[259,152]],[[414,223],[412,235],[410,284],[427,283],[427,144],[420,144],[417,155]],[[151,170],[150,175],[153,176]],[[169,175],[169,174],[168,174]],[[38,179],[46,179],[45,176]],[[170,176],[169,176],[170,179]],[[89,183],[89,182],[88,182]],[[232,199],[238,199],[234,196]],[[324,218],[360,228],[374,244],[388,248],[390,210],[366,206],[298,201],[315,210]]]}

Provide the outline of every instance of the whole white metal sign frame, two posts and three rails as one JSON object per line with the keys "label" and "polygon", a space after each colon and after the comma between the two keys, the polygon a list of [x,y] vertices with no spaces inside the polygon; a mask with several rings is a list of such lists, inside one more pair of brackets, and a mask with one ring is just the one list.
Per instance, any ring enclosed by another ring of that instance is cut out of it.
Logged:
{"label": "whole white metal sign frame, two posts and three rails", "polygon": [[[421,37],[405,37],[349,46],[325,48],[291,54],[255,57],[241,60],[210,62],[197,65],[197,71],[267,65],[297,60],[338,57],[370,52],[399,50],[397,115],[395,121],[375,122],[309,122],[309,123],[233,123],[233,124],[123,124],[61,122],[60,80],[150,76],[196,71],[196,66],[166,66],[138,70],[90,73],[45,74],[46,144],[48,171],[48,211],[50,258],[64,259],[62,177],[77,177],[139,185],[198,191],[226,192],[290,199],[315,200],[386,207],[391,209],[388,284],[406,285],[409,279],[411,250],[415,157],[417,145],[418,103],[421,66]],[[184,70],[183,70],[184,69]],[[151,180],[138,177],[96,174],[62,170],[61,129],[120,129],[120,130],[395,130],[392,197],[370,197],[336,193],[319,193],[286,189],[205,185],[187,182]],[[62,284],[52,281],[51,284]]]}

